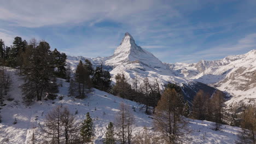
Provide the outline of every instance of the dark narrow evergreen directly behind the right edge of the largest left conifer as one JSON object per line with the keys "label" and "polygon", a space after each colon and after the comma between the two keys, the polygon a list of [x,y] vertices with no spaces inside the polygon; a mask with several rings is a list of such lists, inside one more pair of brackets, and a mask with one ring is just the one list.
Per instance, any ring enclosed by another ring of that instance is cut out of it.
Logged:
{"label": "dark narrow evergreen directly behind the right edge of the largest left conifer", "polygon": [[53,51],[54,67],[56,68],[55,75],[63,79],[66,78],[67,70],[65,68],[67,56],[65,53],[60,53],[57,49]]}

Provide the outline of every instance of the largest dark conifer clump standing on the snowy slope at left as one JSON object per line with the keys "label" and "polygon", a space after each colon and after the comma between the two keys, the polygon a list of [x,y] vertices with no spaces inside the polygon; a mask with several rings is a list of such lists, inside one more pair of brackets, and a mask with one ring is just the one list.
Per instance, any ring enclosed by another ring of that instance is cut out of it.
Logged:
{"label": "largest dark conifer clump standing on the snowy slope at left", "polygon": [[25,55],[24,74],[26,76],[25,83],[21,87],[25,102],[31,104],[34,97],[42,100],[47,93],[57,92],[57,86],[53,55],[46,41],[41,41],[37,45],[36,40],[33,40],[33,43],[26,49]]}

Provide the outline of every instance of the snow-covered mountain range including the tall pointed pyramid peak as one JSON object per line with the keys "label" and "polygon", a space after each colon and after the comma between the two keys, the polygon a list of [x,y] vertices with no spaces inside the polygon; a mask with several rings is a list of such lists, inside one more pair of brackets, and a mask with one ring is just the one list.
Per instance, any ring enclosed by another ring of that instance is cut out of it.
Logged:
{"label": "snow-covered mountain range including the tall pointed pyramid peak", "polygon": [[[85,57],[68,57],[73,69],[78,61]],[[143,82],[158,82],[162,87],[168,82],[177,83],[183,88],[185,97],[191,101],[199,89],[212,94],[220,89],[230,96],[228,104],[240,100],[250,101],[256,98],[256,50],[244,55],[228,56],[218,61],[200,61],[198,63],[162,63],[152,53],[135,43],[131,34],[125,33],[120,45],[110,57],[88,58],[92,64],[100,65],[112,74],[112,80],[123,73],[133,86],[135,77]],[[211,86],[211,87],[210,87]],[[214,87],[214,88],[213,88]]]}

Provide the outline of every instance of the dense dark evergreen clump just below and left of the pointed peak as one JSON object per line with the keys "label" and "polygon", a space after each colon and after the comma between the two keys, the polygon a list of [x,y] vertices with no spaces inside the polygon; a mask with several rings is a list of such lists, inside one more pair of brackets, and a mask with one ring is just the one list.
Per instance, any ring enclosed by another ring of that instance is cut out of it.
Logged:
{"label": "dense dark evergreen clump just below and left of the pointed peak", "polygon": [[95,69],[94,76],[92,76],[92,84],[101,91],[109,92],[111,84],[110,78],[109,71],[103,70],[101,65],[101,67],[96,67]]}

